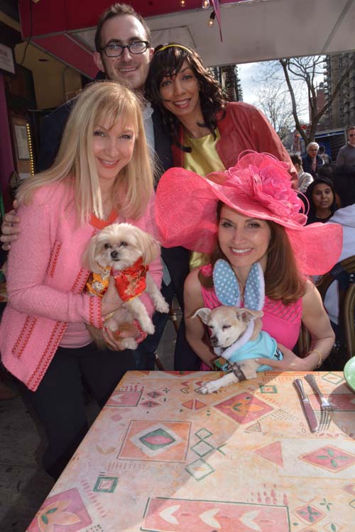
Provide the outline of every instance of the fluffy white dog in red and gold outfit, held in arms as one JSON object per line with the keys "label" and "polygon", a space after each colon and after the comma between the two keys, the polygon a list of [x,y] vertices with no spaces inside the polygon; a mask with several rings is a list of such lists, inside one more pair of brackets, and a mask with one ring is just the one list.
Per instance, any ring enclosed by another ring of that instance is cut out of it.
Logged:
{"label": "fluffy white dog in red and gold outfit, held in arms", "polygon": [[[131,321],[136,318],[148,334],[154,333],[153,322],[138,296],[146,290],[155,309],[169,311],[167,302],[148,274],[149,262],[159,254],[160,246],[149,233],[130,223],[112,223],[91,238],[82,259],[84,266],[92,272],[91,282],[87,284],[88,292],[92,295],[104,294],[112,275],[126,307],[126,318],[131,316]],[[105,324],[111,331],[118,331],[122,324],[122,312],[114,312]],[[92,328],[89,330],[96,341],[97,335]],[[121,341],[124,348],[137,347],[133,338]]]}

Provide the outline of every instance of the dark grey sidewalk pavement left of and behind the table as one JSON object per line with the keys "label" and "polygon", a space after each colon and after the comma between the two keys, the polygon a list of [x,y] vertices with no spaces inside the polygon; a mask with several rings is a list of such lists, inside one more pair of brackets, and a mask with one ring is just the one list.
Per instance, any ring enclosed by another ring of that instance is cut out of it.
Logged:
{"label": "dark grey sidewalk pavement left of and behind the table", "polygon": [[[165,370],[173,370],[176,333],[168,321],[158,348]],[[12,383],[10,383],[13,386]],[[0,531],[25,532],[54,481],[41,466],[45,435],[23,394],[0,401]],[[97,404],[87,404],[88,418],[94,421]],[[119,532],[119,531],[117,531]]]}

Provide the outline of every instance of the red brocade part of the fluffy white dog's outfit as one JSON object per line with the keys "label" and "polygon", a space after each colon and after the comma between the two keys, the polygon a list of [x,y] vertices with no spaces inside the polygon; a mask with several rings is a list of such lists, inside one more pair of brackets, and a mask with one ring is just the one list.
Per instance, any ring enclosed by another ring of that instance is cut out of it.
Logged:
{"label": "red brocade part of the fluffy white dog's outfit", "polygon": [[143,259],[140,257],[134,264],[124,270],[114,271],[114,276],[117,292],[122,301],[131,301],[135,297],[140,296],[146,289],[146,276],[149,266],[143,264]]}

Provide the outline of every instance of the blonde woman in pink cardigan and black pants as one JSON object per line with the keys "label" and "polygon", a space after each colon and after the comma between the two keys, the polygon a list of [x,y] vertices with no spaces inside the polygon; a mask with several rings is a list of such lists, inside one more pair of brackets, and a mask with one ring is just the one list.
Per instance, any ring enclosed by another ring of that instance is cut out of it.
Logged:
{"label": "blonde woman in pink cardigan and black pants", "polygon": [[[153,232],[153,173],[141,104],[126,87],[98,82],[77,99],[55,164],[18,192],[22,231],[9,253],[9,304],[0,326],[7,369],[30,390],[48,436],[43,464],[57,478],[87,431],[82,382],[103,406],[127,369],[129,350],[98,351],[85,326],[104,330],[119,309],[114,287],[83,292],[81,257],[89,238],[114,221]],[[160,286],[160,260],[150,272]],[[145,299],[153,312],[151,301]],[[131,326],[129,336],[141,332]]]}

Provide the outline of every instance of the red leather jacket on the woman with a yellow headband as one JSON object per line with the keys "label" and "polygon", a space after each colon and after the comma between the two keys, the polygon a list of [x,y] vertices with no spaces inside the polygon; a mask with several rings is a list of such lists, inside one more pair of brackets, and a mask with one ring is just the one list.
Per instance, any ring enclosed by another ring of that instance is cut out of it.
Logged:
{"label": "red leather jacket on the woman with a yellow headband", "polygon": [[[221,138],[216,144],[216,149],[225,168],[234,166],[244,150],[271,153],[279,160],[288,162],[293,188],[297,189],[297,172],[290,155],[271,124],[258,109],[241,101],[229,102],[226,105],[226,115],[218,121],[218,129]],[[180,143],[183,143],[182,139],[181,127]],[[171,150],[174,165],[183,167],[184,152],[176,145],[172,145]]]}

